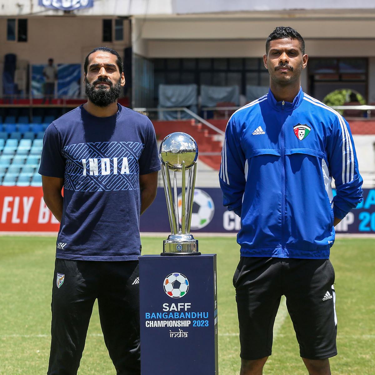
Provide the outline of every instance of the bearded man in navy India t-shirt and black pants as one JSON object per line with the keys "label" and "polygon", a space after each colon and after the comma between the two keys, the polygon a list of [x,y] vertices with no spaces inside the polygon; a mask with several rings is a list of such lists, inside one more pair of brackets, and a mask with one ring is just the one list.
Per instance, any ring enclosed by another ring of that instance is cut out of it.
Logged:
{"label": "bearded man in navy India t-shirt and black pants", "polygon": [[48,126],[39,169],[61,223],[48,375],[77,374],[96,299],[117,374],[139,375],[139,215],[156,196],[156,137],[146,116],[117,104],[116,51],[94,49],[84,71],[88,101]]}

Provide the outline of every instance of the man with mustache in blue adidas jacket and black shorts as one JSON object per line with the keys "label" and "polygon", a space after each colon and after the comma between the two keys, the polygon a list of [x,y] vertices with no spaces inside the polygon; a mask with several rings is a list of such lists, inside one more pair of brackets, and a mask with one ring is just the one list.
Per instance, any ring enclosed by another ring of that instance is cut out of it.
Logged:
{"label": "man with mustache in blue adidas jacket and black shorts", "polygon": [[362,200],[362,177],[347,121],[300,87],[307,61],[302,36],[277,27],[264,55],[270,90],[236,111],[225,131],[223,203],[242,223],[233,278],[240,375],[262,374],[282,295],[309,374],[330,374],[337,354],[329,254],[334,225]]}

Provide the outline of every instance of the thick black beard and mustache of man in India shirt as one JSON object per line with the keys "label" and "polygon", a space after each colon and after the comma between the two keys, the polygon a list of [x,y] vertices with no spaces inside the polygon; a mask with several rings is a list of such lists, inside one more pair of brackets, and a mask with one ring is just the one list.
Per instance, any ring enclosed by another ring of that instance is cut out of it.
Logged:
{"label": "thick black beard and mustache of man in India shirt", "polygon": [[[99,82],[105,82],[110,85],[109,90],[105,88],[96,89],[95,85]],[[92,84],[87,81],[85,78],[85,90],[87,98],[89,98],[90,102],[95,104],[98,107],[108,107],[108,105],[117,101],[118,97],[120,96],[121,91],[121,78],[113,84],[107,78],[98,78]]]}

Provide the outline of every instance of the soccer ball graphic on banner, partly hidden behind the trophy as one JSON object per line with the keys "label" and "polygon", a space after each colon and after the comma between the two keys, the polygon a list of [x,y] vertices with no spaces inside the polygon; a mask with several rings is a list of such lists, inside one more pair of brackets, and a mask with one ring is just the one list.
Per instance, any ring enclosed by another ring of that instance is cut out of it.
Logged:
{"label": "soccer ball graphic on banner, partly hidden behind the trophy", "polygon": [[[181,194],[178,196],[178,216],[181,224]],[[204,228],[213,218],[215,206],[212,198],[203,190],[195,189],[190,229]]]}

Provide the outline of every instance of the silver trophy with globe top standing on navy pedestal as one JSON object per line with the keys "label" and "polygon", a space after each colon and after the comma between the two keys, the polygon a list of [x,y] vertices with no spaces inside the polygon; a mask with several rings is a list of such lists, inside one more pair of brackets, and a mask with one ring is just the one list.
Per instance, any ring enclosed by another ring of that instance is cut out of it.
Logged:
{"label": "silver trophy with globe top standing on navy pedestal", "polygon": [[[165,199],[171,233],[163,241],[161,255],[200,255],[198,241],[189,233],[196,177],[198,146],[192,136],[182,132],[167,135],[160,144]],[[186,172],[189,171],[186,184]],[[173,178],[171,179],[171,172]],[[177,175],[181,173],[181,226],[178,215]],[[173,180],[173,187],[171,181]],[[187,185],[187,186],[186,186]]]}

